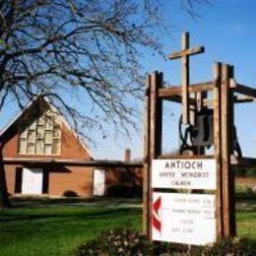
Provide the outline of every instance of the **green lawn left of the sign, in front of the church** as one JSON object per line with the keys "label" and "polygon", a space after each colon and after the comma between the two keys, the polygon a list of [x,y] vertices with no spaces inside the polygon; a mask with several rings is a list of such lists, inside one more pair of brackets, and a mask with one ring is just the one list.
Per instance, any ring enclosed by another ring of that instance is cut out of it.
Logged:
{"label": "green lawn left of the sign, in front of the church", "polygon": [[72,255],[102,229],[140,228],[140,209],[48,206],[1,212],[0,255]]}

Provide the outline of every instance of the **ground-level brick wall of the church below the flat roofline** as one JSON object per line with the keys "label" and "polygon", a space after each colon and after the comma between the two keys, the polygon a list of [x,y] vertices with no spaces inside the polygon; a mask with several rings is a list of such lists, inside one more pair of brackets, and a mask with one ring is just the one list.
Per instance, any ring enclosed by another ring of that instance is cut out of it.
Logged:
{"label": "ground-level brick wall of the church below the flat roofline", "polygon": [[[66,191],[72,191],[81,197],[93,196],[94,167],[84,166],[43,166],[6,164],[6,181],[8,193],[15,194],[15,177],[17,167],[43,168],[49,173],[48,193],[45,196],[63,196]],[[97,168],[97,167],[96,167]],[[141,195],[142,169],[113,167],[105,168],[105,195],[132,197]]]}

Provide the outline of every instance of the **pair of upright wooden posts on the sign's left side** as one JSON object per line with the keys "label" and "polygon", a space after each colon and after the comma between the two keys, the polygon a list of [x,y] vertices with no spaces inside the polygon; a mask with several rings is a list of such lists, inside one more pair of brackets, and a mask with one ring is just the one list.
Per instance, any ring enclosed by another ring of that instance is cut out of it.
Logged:
{"label": "pair of upright wooden posts on the sign's left side", "polygon": [[[151,188],[151,163],[152,160],[157,159],[161,154],[161,126],[162,126],[162,101],[159,97],[159,89],[162,87],[162,73],[154,72],[150,76],[150,92],[147,107],[147,137],[145,143],[150,142],[145,146],[146,154],[148,155],[147,164],[144,166],[147,181],[144,181],[146,187],[144,188],[144,231],[148,237],[152,237],[152,188]],[[145,126],[146,126],[145,125]],[[145,154],[145,156],[146,156]],[[146,173],[147,172],[147,173]],[[146,184],[147,183],[147,184]],[[146,191],[147,190],[147,191]],[[146,221],[147,220],[147,221]],[[146,221],[146,223],[145,223]]]}

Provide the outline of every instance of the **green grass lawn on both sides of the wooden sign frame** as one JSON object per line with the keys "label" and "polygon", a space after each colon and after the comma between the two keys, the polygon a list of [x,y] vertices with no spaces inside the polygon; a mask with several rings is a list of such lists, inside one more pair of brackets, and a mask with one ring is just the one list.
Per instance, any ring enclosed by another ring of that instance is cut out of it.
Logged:
{"label": "green grass lawn on both sides of the wooden sign frame", "polygon": [[[256,200],[240,197],[238,235],[256,240]],[[0,255],[72,255],[102,229],[125,226],[141,229],[142,209],[134,201],[102,201],[80,205],[68,201],[18,204],[0,212]],[[129,207],[127,204],[133,204]]]}

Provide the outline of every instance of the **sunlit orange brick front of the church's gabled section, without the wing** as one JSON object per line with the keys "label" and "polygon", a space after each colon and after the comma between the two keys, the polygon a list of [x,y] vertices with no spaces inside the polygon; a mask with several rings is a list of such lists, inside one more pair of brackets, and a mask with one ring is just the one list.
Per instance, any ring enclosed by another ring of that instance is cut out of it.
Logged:
{"label": "sunlit orange brick front of the church's gabled section, without the wing", "polygon": [[[39,156],[39,155],[19,155],[18,154],[18,129],[12,126],[4,135],[3,157],[8,159],[61,159],[61,160],[91,160],[92,157],[80,144],[74,133],[62,124],[61,133],[61,154],[60,156]],[[6,164],[6,182],[8,192],[14,194],[17,167],[30,167],[27,165]],[[32,165],[49,171],[48,194],[52,196],[62,196],[66,190],[72,190],[79,196],[91,196],[93,188],[93,169],[81,166],[65,166],[56,168],[55,166],[45,167],[43,164]]]}

